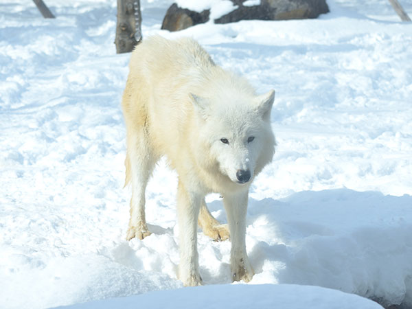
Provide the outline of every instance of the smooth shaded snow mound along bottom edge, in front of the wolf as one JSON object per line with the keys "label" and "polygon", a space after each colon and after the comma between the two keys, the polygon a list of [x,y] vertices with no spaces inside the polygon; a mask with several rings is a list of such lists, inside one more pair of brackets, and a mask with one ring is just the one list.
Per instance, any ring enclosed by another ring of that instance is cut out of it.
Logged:
{"label": "smooth shaded snow mound along bottom edge, in front of the wolf", "polygon": [[105,301],[93,301],[64,307],[67,309],[122,308],[192,308],[192,309],[382,309],[381,306],[356,295],[316,286],[294,285],[225,285],[200,286],[168,290]]}

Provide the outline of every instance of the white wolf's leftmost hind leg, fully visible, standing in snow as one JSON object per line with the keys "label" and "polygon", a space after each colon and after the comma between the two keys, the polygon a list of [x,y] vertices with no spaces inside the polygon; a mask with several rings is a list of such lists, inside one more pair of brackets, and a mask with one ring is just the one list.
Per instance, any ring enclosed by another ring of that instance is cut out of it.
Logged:
{"label": "white wolf's leftmost hind leg, fully visible, standing in snow", "polygon": [[150,149],[149,139],[144,130],[130,132],[127,137],[126,185],[131,182],[130,220],[126,240],[142,240],[151,233],[146,224],[146,185],[157,159]]}

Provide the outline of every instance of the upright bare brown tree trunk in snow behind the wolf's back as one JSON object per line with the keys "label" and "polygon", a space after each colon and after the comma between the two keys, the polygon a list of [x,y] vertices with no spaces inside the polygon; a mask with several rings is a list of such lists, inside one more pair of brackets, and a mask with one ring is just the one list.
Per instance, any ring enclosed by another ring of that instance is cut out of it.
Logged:
{"label": "upright bare brown tree trunk in snow behind the wolf's back", "polygon": [[116,52],[131,52],[141,41],[139,0],[117,0]]}

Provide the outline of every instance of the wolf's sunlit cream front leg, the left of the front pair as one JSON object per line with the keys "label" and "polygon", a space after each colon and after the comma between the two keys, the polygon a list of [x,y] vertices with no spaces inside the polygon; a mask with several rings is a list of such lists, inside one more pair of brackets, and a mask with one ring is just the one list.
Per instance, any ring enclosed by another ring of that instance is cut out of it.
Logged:
{"label": "wolf's sunlit cream front leg, the left of the front pair", "polygon": [[185,286],[202,284],[197,251],[197,220],[203,196],[188,191],[179,181],[177,187],[177,221],[179,225],[179,279]]}

